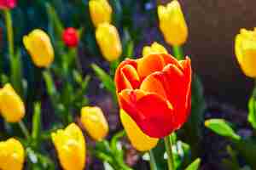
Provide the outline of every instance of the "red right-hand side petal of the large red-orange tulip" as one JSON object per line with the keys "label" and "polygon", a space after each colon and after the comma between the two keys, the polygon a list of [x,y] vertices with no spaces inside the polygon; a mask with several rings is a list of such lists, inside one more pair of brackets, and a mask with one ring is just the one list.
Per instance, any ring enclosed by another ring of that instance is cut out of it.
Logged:
{"label": "red right-hand side petal of the large red-orange tulip", "polygon": [[[186,65],[189,65],[189,60],[187,63]],[[186,74],[184,74],[176,65],[169,64],[166,65],[163,71],[153,74],[162,83],[167,99],[173,105],[174,123],[177,129],[183,125],[189,115],[191,84],[191,71],[189,68],[184,68],[186,70]]]}

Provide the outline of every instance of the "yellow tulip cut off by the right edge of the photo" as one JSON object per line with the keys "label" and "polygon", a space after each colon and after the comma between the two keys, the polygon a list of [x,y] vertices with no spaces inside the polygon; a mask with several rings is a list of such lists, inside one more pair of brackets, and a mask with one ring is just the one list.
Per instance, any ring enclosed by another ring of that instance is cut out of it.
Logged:
{"label": "yellow tulip cut off by the right edge of the photo", "polygon": [[235,40],[236,59],[247,77],[256,77],[256,28],[241,29]]}

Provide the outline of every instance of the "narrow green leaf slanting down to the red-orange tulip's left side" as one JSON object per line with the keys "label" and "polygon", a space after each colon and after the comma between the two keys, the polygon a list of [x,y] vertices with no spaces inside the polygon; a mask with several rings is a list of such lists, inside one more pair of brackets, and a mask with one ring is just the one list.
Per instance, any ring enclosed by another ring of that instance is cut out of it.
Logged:
{"label": "narrow green leaf slanting down to the red-orange tulip's left side", "polygon": [[95,71],[96,76],[102,81],[104,87],[111,94],[115,95],[115,86],[112,77],[110,77],[106,71],[102,70],[102,68],[96,64],[92,64],[91,67]]}

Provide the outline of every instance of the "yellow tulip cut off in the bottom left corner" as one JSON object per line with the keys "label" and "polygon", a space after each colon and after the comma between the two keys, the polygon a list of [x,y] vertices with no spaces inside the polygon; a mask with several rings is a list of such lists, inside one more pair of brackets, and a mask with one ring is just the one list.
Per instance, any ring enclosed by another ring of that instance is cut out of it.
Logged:
{"label": "yellow tulip cut off in the bottom left corner", "polygon": [[19,140],[8,139],[0,142],[0,169],[21,170],[25,159],[25,151]]}

